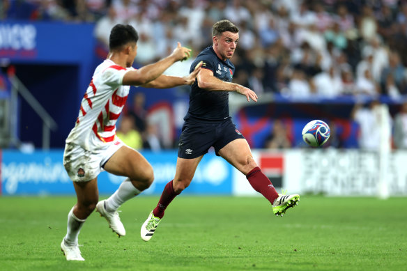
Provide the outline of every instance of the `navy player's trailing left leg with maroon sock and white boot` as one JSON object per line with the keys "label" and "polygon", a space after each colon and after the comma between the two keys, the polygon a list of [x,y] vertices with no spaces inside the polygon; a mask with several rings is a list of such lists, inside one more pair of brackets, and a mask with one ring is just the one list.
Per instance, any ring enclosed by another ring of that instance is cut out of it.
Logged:
{"label": "navy player's trailing left leg with maroon sock and white boot", "polygon": [[148,241],[153,237],[155,229],[157,229],[162,217],[164,217],[165,209],[167,209],[169,203],[171,203],[176,196],[183,192],[183,189],[190,185],[202,157],[203,155],[194,159],[183,159],[178,157],[174,180],[171,180],[165,185],[157,207],[151,211],[143,226],[141,226],[141,239]]}

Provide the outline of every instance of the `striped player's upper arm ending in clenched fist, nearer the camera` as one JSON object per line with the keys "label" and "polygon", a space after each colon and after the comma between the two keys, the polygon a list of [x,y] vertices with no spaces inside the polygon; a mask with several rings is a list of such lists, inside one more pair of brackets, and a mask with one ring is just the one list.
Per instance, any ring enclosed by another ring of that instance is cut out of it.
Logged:
{"label": "striped player's upper arm ending in clenched fist, nearer the camera", "polygon": [[169,66],[176,63],[176,61],[181,61],[185,58],[190,57],[191,49],[186,47],[181,47],[181,43],[178,42],[178,46],[174,49],[169,56],[166,58],[150,64],[146,65],[139,70],[132,70],[130,72],[126,72],[123,77],[123,85],[132,85],[132,86],[140,86],[147,84],[148,82],[157,79],[162,72],[167,70]]}

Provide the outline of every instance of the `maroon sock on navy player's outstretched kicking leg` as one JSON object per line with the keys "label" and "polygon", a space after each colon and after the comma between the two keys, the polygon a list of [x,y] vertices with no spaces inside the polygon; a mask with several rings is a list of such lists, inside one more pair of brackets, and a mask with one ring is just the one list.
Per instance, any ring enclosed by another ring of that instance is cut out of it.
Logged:
{"label": "maroon sock on navy player's outstretched kicking leg", "polygon": [[278,198],[278,193],[275,191],[274,186],[266,175],[261,172],[259,167],[255,167],[252,171],[247,173],[246,178],[254,190],[261,193],[271,204]]}

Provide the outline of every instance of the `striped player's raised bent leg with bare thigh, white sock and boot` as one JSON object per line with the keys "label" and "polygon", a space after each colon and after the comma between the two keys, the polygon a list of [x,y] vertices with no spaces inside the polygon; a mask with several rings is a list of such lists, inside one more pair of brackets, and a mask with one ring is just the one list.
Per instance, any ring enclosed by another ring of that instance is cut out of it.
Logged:
{"label": "striped player's raised bent leg with bare thigh, white sock and boot", "polygon": [[153,168],[139,152],[123,146],[106,162],[105,170],[118,176],[128,176],[109,199],[100,201],[96,206],[118,237],[124,236],[125,229],[117,209],[150,187],[154,179]]}

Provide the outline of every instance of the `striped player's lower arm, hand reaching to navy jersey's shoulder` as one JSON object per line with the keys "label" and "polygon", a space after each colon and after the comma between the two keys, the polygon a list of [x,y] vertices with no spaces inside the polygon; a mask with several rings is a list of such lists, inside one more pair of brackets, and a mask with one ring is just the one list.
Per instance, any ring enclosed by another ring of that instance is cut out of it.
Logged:
{"label": "striped player's lower arm, hand reaching to navy jersey's shoulder", "polygon": [[190,85],[195,82],[198,73],[201,71],[202,61],[195,66],[194,71],[185,77],[175,77],[168,75],[160,75],[157,79],[144,84],[145,88],[173,88],[174,86]]}

